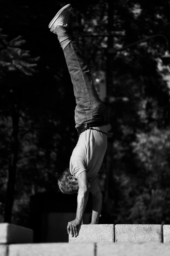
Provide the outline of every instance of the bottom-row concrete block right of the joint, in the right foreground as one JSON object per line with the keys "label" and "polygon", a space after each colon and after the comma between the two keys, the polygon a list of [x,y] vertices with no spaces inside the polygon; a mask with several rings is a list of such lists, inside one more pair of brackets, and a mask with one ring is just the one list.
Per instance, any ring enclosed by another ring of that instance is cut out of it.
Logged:
{"label": "bottom-row concrete block right of the joint, in the right foreground", "polygon": [[168,244],[105,243],[96,245],[96,256],[169,256]]}

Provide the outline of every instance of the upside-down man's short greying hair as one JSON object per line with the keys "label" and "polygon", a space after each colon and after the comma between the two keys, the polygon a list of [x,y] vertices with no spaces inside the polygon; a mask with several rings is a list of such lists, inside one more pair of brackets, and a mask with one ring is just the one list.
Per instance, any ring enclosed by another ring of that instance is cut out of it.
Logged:
{"label": "upside-down man's short greying hair", "polygon": [[62,193],[64,194],[74,194],[78,192],[78,181],[70,180],[71,176],[69,168],[66,168],[62,173],[55,173],[58,178],[58,186]]}

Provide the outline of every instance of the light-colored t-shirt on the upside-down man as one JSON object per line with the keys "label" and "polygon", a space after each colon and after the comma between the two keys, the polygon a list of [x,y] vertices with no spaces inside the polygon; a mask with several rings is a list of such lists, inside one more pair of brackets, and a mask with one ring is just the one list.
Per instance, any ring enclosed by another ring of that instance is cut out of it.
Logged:
{"label": "light-colored t-shirt on the upside-down man", "polygon": [[70,173],[74,178],[87,171],[88,181],[96,176],[103,162],[107,148],[107,126],[93,127],[96,130],[87,129],[79,136],[78,143],[70,158]]}

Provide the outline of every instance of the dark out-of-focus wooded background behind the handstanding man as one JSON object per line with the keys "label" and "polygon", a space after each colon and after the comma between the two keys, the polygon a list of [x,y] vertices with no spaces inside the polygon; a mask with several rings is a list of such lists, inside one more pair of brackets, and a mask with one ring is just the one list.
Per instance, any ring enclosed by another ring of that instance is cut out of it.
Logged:
{"label": "dark out-of-focus wooded background behind the handstanding man", "polygon": [[[72,39],[91,70],[106,72],[104,102],[112,128],[99,172],[107,191],[101,223],[169,224],[169,67],[158,69],[166,40],[155,37],[114,55],[107,48],[156,34],[170,40],[170,1],[70,3]],[[73,86],[57,36],[48,28],[66,4],[0,2],[1,222],[31,226],[30,196],[59,191],[54,172],[69,167],[78,140]],[[109,31],[124,31],[124,36],[83,36]]]}

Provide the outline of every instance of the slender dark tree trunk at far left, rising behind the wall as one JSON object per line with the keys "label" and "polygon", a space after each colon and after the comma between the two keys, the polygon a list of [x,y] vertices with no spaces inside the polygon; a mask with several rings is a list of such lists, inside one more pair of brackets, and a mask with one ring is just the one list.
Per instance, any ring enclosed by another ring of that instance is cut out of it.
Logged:
{"label": "slender dark tree trunk at far left, rising behind the wall", "polygon": [[19,132],[19,110],[16,105],[13,106],[12,111],[12,134],[11,134],[11,158],[8,169],[7,192],[5,202],[4,222],[11,223],[12,208],[14,203],[15,192],[15,179],[17,170],[17,157],[18,157],[18,132]]}

